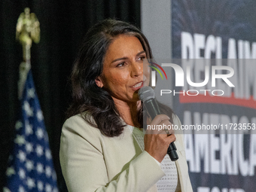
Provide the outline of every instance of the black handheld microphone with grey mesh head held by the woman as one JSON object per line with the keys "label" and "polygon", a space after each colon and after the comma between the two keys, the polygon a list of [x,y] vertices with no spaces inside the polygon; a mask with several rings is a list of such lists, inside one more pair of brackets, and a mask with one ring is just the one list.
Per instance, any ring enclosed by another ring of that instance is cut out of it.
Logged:
{"label": "black handheld microphone with grey mesh head held by the woman", "polygon": [[[160,108],[157,104],[157,99],[155,99],[154,96],[154,90],[151,87],[140,88],[138,95],[139,99],[143,102],[143,105],[145,105],[148,114],[151,116],[152,120],[154,119],[154,117],[157,116],[157,114],[161,114]],[[169,154],[169,157],[172,161],[178,160],[178,154],[176,150],[177,148],[174,142],[171,142],[167,150],[167,154]]]}

